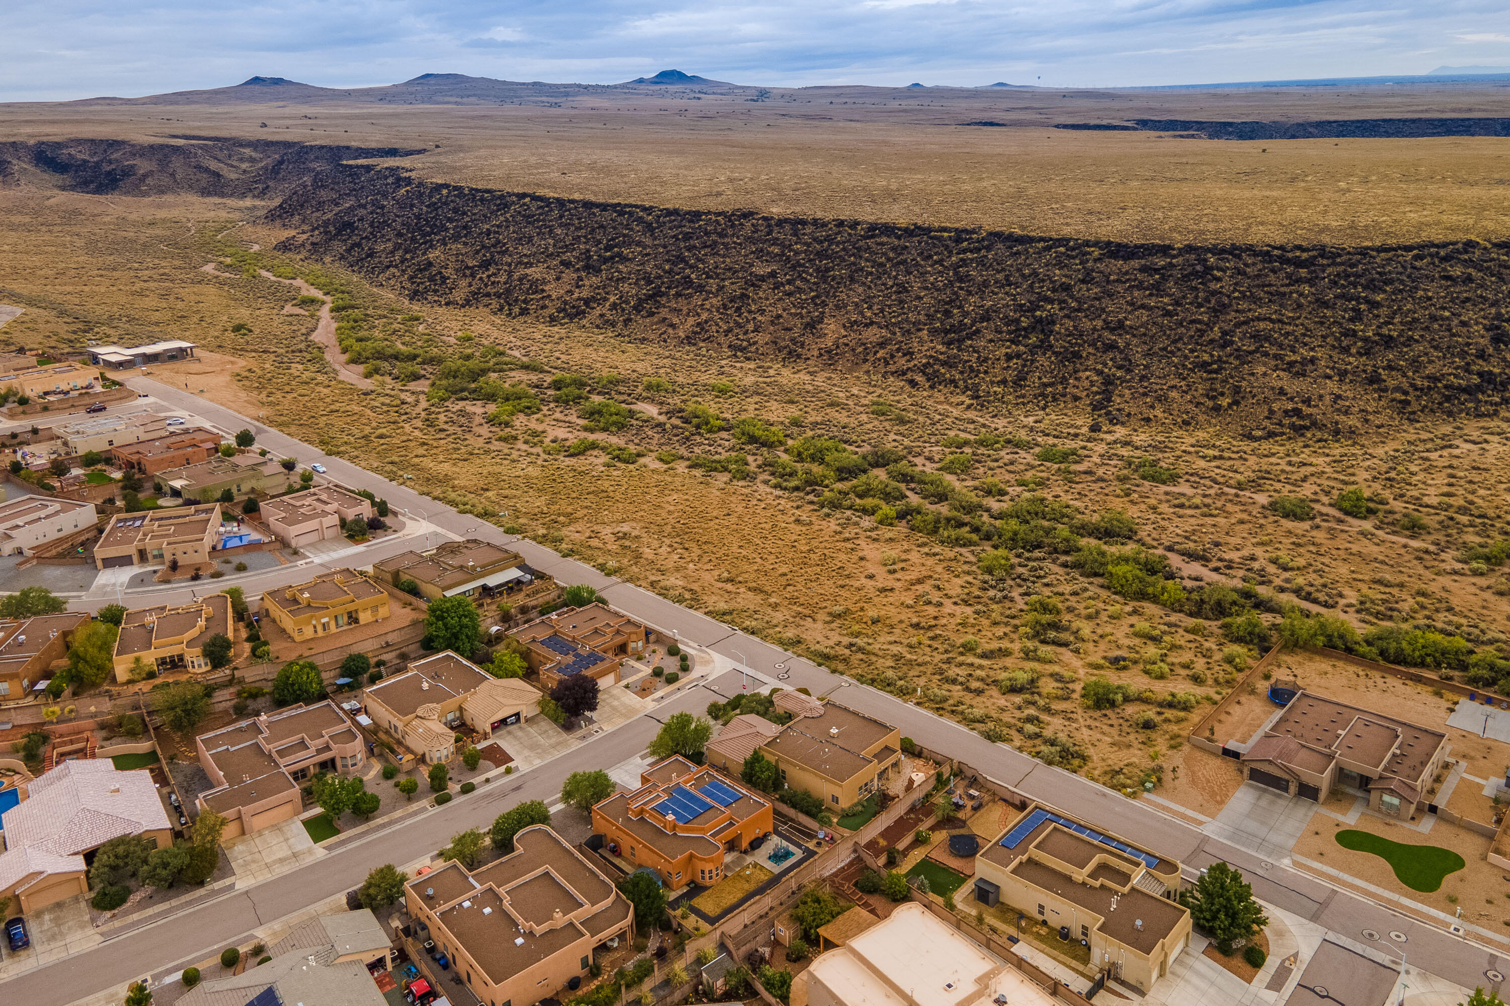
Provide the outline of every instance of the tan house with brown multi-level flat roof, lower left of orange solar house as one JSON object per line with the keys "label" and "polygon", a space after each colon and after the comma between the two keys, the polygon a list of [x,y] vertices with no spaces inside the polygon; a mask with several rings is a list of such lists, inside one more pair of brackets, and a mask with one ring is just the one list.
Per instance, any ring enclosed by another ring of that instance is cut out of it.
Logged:
{"label": "tan house with brown multi-level flat roof, lower left of orange solar house", "polygon": [[482,869],[453,861],[409,881],[405,906],[488,1006],[560,998],[598,946],[634,935],[630,902],[547,825],[516,834],[513,852]]}

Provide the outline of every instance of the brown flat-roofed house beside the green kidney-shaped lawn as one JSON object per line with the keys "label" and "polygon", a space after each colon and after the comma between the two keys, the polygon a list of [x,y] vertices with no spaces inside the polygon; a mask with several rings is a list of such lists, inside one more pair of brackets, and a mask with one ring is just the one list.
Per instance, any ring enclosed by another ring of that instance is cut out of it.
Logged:
{"label": "brown flat-roofed house beside the green kidney-shaped lawn", "polygon": [[1243,777],[1282,793],[1324,801],[1333,786],[1410,819],[1447,759],[1447,735],[1404,719],[1297,691],[1264,736],[1243,753]]}

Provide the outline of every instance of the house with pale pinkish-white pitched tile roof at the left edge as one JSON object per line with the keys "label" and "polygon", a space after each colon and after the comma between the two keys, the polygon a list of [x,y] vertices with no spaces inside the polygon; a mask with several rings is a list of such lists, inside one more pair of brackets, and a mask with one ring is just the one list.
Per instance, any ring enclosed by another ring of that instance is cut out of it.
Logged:
{"label": "house with pale pinkish-white pitched tile roof at the left edge", "polygon": [[32,780],[27,798],[0,816],[0,896],[32,912],[86,894],[85,857],[110,839],[139,834],[159,849],[172,825],[151,772],[119,772],[109,759],[63,762]]}

